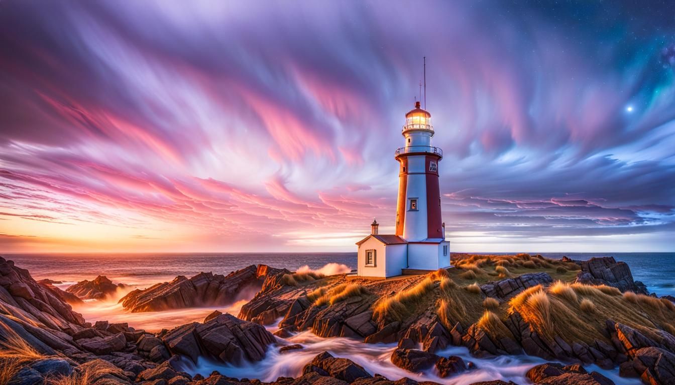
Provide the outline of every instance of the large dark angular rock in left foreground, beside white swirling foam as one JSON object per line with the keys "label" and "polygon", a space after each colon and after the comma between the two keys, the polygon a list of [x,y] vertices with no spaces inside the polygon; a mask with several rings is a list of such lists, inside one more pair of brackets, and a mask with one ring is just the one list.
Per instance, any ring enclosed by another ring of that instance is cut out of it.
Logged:
{"label": "large dark angular rock in left foreground, beside white swirling foam", "polygon": [[267,345],[276,340],[259,324],[221,314],[204,324],[179,326],[167,332],[162,341],[170,353],[190,357],[194,362],[200,355],[207,355],[236,364],[244,360],[260,361],[265,357]]}

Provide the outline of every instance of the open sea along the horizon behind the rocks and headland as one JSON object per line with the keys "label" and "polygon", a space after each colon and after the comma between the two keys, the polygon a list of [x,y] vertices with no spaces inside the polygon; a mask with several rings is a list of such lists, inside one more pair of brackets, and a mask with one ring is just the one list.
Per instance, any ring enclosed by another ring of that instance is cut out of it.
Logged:
{"label": "open sea along the horizon behind the rocks and headland", "polygon": [[[480,253],[477,253],[480,254]],[[487,253],[485,253],[487,254]],[[489,253],[514,254],[514,253]],[[531,253],[537,254],[537,253]],[[547,258],[568,256],[574,260],[612,256],[630,266],[633,278],[642,281],[656,295],[675,296],[675,253],[539,253]],[[356,268],[356,253],[153,253],[153,254],[0,254],[14,260],[36,280],[49,278],[72,285],[105,275],[115,283],[148,287],[193,276],[199,272],[227,274],[252,264],[267,264],[296,270],[301,266],[318,269],[329,263]],[[452,260],[452,255],[451,255]]]}

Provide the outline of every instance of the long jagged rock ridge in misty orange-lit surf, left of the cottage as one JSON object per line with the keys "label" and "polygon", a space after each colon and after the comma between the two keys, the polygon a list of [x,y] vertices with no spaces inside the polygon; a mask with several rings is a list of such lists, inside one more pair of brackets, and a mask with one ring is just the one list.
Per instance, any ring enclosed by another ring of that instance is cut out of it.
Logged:
{"label": "long jagged rock ridge in misty orange-lit surf, left of the cottage", "polygon": [[192,278],[178,276],[168,283],[134,290],[119,300],[132,313],[157,312],[198,306],[224,306],[250,298],[263,286],[269,266],[251,265],[227,276],[200,272]]}

